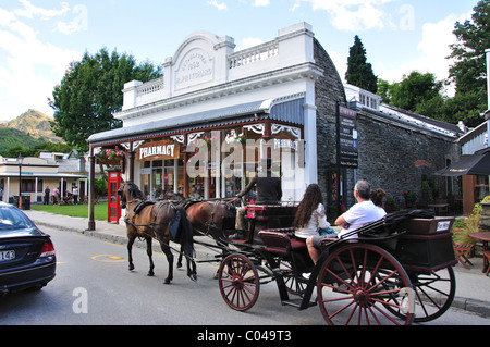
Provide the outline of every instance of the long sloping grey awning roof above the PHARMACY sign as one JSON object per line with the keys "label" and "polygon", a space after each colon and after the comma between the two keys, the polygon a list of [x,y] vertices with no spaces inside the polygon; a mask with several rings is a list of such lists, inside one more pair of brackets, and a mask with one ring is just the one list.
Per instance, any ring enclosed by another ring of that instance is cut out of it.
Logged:
{"label": "long sloping grey awning roof above the PHARMACY sign", "polygon": [[254,101],[97,133],[88,137],[87,140],[89,144],[134,140],[174,133],[176,129],[185,132],[209,126],[252,122],[260,117],[303,124],[303,98],[282,103],[273,102],[271,99]]}

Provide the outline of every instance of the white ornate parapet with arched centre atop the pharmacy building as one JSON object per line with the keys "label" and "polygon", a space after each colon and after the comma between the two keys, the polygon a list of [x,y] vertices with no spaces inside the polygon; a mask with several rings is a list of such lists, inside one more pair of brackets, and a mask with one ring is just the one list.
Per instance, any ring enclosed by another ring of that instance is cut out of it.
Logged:
{"label": "white ornate parapet with arched centre atop the pharmacy building", "polygon": [[236,84],[238,80],[303,63],[314,63],[314,34],[307,23],[279,30],[270,41],[234,52],[231,37],[207,32],[184,39],[175,54],[163,64],[163,77],[124,85],[122,111],[198,92],[207,88]]}

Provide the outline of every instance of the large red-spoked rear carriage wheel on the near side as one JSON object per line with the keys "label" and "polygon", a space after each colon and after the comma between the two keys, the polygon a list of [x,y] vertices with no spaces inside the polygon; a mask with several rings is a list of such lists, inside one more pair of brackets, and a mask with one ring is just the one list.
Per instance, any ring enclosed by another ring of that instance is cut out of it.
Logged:
{"label": "large red-spoked rear carriage wheel on the near side", "polygon": [[[318,301],[329,324],[411,324],[412,282],[382,248],[347,244],[331,251],[320,268]],[[387,309],[390,307],[390,309]],[[400,318],[392,310],[406,310]]]}

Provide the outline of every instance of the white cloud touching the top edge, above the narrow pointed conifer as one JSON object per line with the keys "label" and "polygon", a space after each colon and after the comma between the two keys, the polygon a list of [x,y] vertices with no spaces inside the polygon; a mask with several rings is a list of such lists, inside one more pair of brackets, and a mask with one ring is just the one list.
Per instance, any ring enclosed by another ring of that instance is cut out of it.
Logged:
{"label": "white cloud touching the top edge, above the narrow pointed conifer", "polygon": [[296,0],[291,10],[294,11],[301,2],[307,2],[314,11],[326,11],[334,28],[358,32],[393,27],[391,15],[382,9],[393,1],[396,0]]}

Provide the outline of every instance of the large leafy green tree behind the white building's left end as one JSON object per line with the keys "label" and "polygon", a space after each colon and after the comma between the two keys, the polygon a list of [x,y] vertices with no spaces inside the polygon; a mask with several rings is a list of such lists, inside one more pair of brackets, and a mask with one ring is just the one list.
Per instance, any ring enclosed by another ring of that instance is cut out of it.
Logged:
{"label": "large leafy green tree behind the white building's left end", "polygon": [[79,62],[72,62],[61,84],[54,87],[49,104],[54,110],[51,128],[66,144],[88,150],[86,139],[95,133],[121,127],[113,113],[122,108],[124,83],[147,82],[160,77],[161,66],[145,62],[136,65],[132,55],[109,54],[102,48],[94,55],[86,52]]}

